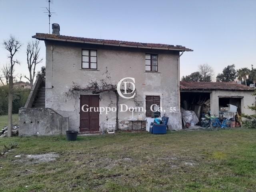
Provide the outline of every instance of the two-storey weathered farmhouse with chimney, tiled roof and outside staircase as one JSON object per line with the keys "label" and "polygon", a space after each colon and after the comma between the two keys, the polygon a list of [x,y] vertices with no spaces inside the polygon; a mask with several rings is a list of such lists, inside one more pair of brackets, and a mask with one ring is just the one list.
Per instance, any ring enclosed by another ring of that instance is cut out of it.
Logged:
{"label": "two-storey weathered farmhouse with chimney, tiled roof and outside staircase", "polygon": [[[20,109],[20,135],[62,134],[66,130],[79,132],[102,132],[106,130],[108,120],[116,120],[116,112],[100,114],[84,112],[82,106],[115,107],[114,92],[95,93],[74,88],[87,87],[91,82],[100,82],[108,74],[112,84],[126,77],[135,80],[136,96],[132,99],[119,98],[121,104],[128,107],[140,106],[143,112],[134,112],[134,117],[151,116],[150,106],[162,108],[161,115],[169,117],[170,129],[182,129],[180,96],[205,92],[195,88],[186,89],[182,85],[180,95],[180,56],[193,51],[184,46],[167,44],[102,40],[60,35],[58,24],[52,24],[53,34],[36,33],[32,38],[42,40],[46,46],[46,77],[37,77],[33,90],[24,108]],[[70,92],[70,90],[75,90]],[[224,90],[223,90],[224,91]],[[228,91],[228,90],[225,90]],[[223,92],[222,96],[230,96]],[[241,91],[241,90],[240,90]],[[254,102],[246,92],[235,92],[241,100],[241,109]],[[206,93],[212,102],[219,96],[218,90],[208,89]],[[212,106],[213,107],[213,106]],[[213,107],[214,108],[214,107]],[[216,105],[218,108],[218,104]],[[214,108],[214,110],[216,110]],[[217,112],[217,110],[216,110]],[[132,112],[118,113],[119,129],[138,129],[145,122],[130,119]],[[139,119],[139,118],[138,118]]]}

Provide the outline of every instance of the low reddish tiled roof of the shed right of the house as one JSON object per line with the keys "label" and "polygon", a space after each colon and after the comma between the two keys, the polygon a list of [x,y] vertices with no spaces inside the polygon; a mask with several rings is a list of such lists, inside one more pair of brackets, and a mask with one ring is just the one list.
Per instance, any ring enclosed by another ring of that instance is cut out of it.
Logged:
{"label": "low reddish tiled roof of the shed right of the house", "polygon": [[236,90],[254,91],[255,89],[236,82],[180,82],[180,90]]}

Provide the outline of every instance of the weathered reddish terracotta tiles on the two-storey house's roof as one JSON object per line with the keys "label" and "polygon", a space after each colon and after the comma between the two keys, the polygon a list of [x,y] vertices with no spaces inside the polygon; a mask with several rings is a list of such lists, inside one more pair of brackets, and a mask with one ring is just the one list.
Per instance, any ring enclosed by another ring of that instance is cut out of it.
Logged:
{"label": "weathered reddish terracotta tiles on the two-storey house's roof", "polygon": [[106,39],[92,39],[92,38],[83,38],[83,37],[72,37],[64,35],[54,35],[46,33],[36,33],[32,36],[39,40],[58,40],[58,41],[74,41],[80,43],[92,43],[92,44],[104,44],[112,46],[130,46],[136,48],[156,48],[156,49],[165,49],[165,50],[178,50],[178,51],[193,51],[192,49],[186,48],[181,45],[168,45],[168,44],[158,44],[158,43],[140,43],[140,42],[129,42],[129,41],[120,41],[120,40],[106,40]]}

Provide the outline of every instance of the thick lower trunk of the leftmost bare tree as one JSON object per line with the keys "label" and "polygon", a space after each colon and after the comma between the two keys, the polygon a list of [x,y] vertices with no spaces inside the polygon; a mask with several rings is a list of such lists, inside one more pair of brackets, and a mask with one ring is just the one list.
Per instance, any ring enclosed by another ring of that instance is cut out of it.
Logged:
{"label": "thick lower trunk of the leftmost bare tree", "polygon": [[7,136],[12,136],[12,86],[13,86],[13,79],[12,76],[9,78],[9,92],[8,92],[8,132]]}

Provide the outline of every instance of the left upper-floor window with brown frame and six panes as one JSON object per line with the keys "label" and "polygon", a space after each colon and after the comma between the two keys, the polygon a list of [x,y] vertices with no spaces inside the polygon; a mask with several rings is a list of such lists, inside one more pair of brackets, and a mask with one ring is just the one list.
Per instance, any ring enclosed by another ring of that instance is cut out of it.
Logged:
{"label": "left upper-floor window with brown frame and six panes", "polygon": [[96,50],[82,50],[82,69],[97,69]]}

